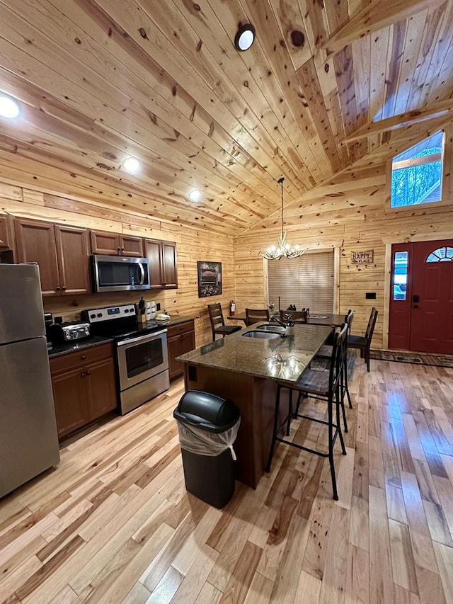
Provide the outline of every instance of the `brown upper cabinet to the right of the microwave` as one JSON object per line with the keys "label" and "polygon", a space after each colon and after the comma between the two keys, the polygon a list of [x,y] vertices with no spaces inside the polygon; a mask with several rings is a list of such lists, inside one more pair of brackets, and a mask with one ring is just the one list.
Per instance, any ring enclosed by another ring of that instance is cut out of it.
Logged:
{"label": "brown upper cabinet to the right of the microwave", "polygon": [[151,289],[176,289],[178,287],[176,244],[173,241],[145,239],[144,249],[149,261]]}

